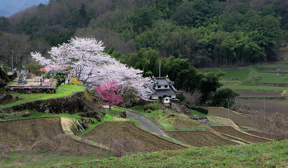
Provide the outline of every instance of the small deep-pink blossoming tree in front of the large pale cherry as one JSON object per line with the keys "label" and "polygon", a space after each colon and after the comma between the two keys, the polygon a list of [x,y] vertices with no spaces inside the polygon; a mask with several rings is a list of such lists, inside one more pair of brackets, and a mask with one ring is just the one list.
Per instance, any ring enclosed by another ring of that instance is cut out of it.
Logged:
{"label": "small deep-pink blossoming tree in front of the large pale cherry", "polygon": [[101,98],[103,102],[108,103],[109,110],[111,109],[112,105],[117,105],[123,101],[120,94],[117,93],[118,89],[121,86],[116,86],[116,82],[114,80],[105,81],[102,86],[94,86],[97,94],[96,96]]}

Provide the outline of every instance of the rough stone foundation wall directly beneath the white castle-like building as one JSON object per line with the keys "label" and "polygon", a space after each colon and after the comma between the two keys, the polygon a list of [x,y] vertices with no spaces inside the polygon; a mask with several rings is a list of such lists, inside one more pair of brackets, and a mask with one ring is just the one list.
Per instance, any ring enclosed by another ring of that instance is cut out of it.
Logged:
{"label": "rough stone foundation wall directly beneath the white castle-like building", "polygon": [[192,113],[178,99],[171,99],[170,104],[162,104],[162,109],[177,111],[181,114],[192,115]]}

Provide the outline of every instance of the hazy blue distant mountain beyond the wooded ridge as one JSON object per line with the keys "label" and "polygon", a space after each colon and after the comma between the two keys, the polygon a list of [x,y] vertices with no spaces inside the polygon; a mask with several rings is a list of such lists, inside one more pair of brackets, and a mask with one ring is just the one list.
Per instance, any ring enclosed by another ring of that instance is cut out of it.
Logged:
{"label": "hazy blue distant mountain beyond the wooded ridge", "polygon": [[8,17],[31,6],[48,2],[49,0],[0,0],[0,16]]}

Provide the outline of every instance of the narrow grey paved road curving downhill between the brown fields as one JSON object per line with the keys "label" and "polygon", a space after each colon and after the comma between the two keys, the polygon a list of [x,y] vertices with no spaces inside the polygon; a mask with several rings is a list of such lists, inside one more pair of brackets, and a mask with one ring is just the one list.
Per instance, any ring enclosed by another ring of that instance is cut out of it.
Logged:
{"label": "narrow grey paved road curving downhill between the brown fields", "polygon": [[[142,127],[147,128],[153,132],[156,132],[160,135],[163,135],[165,137],[168,137],[170,139],[173,139],[171,137],[169,137],[167,134],[164,133],[164,130],[161,128],[161,126],[156,126],[151,120],[149,120],[148,118],[136,114],[136,113],[132,113],[130,111],[126,111],[126,116],[129,118],[135,118],[137,117],[139,123],[141,124]],[[175,139],[173,139],[175,141]]]}

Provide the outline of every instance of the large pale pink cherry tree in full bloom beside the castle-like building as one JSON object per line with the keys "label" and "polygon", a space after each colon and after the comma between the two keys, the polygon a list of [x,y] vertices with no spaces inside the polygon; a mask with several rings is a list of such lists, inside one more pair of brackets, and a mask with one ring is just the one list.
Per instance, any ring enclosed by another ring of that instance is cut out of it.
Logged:
{"label": "large pale pink cherry tree in full bloom beside the castle-like building", "polygon": [[74,77],[84,85],[101,86],[107,80],[114,80],[120,86],[122,95],[132,91],[145,97],[149,78],[142,77],[142,71],[128,68],[119,61],[104,54],[103,43],[94,38],[72,38],[69,43],[52,47],[48,52],[51,59],[46,59],[38,52],[31,53],[32,58],[50,70],[68,70],[69,77]]}

